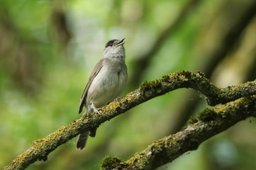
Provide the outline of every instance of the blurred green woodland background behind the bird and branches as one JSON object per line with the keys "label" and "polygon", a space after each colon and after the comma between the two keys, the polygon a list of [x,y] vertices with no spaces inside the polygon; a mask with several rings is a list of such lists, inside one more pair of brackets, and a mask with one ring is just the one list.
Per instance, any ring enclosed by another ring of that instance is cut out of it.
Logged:
{"label": "blurred green woodland background behind the bird and branches", "polygon": [[[0,166],[79,118],[79,98],[108,40],[126,38],[128,85],[182,69],[218,86],[256,78],[256,1],[0,1]],[[126,160],[208,107],[172,91],[104,123],[83,152],[70,140],[28,169],[99,169]],[[255,169],[256,120],[238,123],[159,169]]]}

